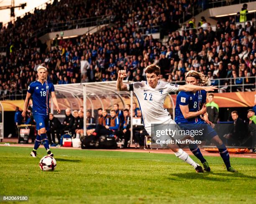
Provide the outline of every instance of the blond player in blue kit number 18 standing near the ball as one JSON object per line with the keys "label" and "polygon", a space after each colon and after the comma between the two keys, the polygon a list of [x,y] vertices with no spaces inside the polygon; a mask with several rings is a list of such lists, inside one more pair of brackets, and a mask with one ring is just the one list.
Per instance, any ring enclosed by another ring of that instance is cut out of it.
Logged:
{"label": "blond player in blue kit number 18 standing near the ball", "polygon": [[24,109],[22,116],[26,116],[26,111],[28,108],[28,102],[30,97],[33,99],[33,117],[36,121],[36,130],[38,134],[36,136],[34,149],[31,152],[32,157],[36,157],[36,150],[43,142],[46,152],[49,156],[53,157],[53,153],[50,151],[49,142],[46,137],[46,131],[49,130],[49,99],[51,95],[51,100],[56,106],[58,114],[60,113],[59,105],[56,99],[54,92],[54,85],[46,80],[46,71],[45,67],[39,66],[37,68],[38,80],[31,82],[28,86],[26,100],[24,102]]}

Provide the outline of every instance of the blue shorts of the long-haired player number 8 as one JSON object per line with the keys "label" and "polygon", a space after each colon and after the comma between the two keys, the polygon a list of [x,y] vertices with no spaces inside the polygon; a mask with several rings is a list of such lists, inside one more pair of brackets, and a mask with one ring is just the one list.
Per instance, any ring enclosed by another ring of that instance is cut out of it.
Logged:
{"label": "blue shorts of the long-haired player number 8", "polygon": [[213,137],[218,135],[218,133],[202,119],[198,119],[198,122],[178,123],[178,125],[184,129],[202,130],[202,136],[200,137],[207,140],[211,140]]}

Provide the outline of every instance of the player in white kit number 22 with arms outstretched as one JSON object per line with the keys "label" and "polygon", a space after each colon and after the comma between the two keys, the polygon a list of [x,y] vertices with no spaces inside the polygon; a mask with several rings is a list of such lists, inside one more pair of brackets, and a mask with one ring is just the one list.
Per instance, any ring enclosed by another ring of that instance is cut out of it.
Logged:
{"label": "player in white kit number 22 with arms outstretched", "polygon": [[[174,85],[168,82],[159,81],[160,67],[157,65],[149,65],[146,70],[146,81],[134,82],[126,85],[123,83],[123,78],[126,77],[126,71],[118,71],[118,79],[116,82],[118,91],[133,91],[138,99],[143,117],[143,124],[151,135],[151,124],[176,124],[171,118],[167,109],[164,109],[164,100],[170,92],[177,91],[214,91],[217,87],[200,87],[195,85]],[[206,109],[205,109],[206,111]],[[180,149],[178,146],[170,147],[179,159],[192,165],[196,172],[203,173],[202,167],[195,163],[189,155]]]}

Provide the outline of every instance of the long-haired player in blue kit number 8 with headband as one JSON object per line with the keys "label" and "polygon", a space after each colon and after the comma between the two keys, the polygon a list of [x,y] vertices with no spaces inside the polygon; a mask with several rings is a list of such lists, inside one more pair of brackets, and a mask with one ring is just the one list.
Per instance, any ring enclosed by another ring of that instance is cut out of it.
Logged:
{"label": "long-haired player in blue kit number 8 with headband", "polygon": [[[203,74],[196,71],[189,71],[185,77],[186,84],[206,86],[209,79]],[[229,172],[237,172],[230,165],[230,159],[227,147],[223,144],[217,132],[212,128],[214,124],[209,121],[205,107],[206,92],[205,90],[184,92],[177,95],[175,107],[175,122],[185,129],[202,129],[203,137],[213,142],[219,149],[225,166]],[[192,124],[192,125],[191,125]],[[195,125],[196,124],[196,125]],[[205,158],[202,156],[197,144],[190,144],[191,152],[202,162],[205,171],[210,172],[210,167]]]}

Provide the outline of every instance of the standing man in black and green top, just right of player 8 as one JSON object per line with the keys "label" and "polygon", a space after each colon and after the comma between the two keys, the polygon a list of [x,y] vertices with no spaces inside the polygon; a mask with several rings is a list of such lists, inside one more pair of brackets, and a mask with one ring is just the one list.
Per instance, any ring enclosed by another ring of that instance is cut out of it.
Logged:
{"label": "standing man in black and green top, just right of player 8", "polygon": [[207,114],[209,121],[212,123],[217,123],[219,116],[219,106],[213,101],[214,94],[208,94],[209,102],[206,104]]}

